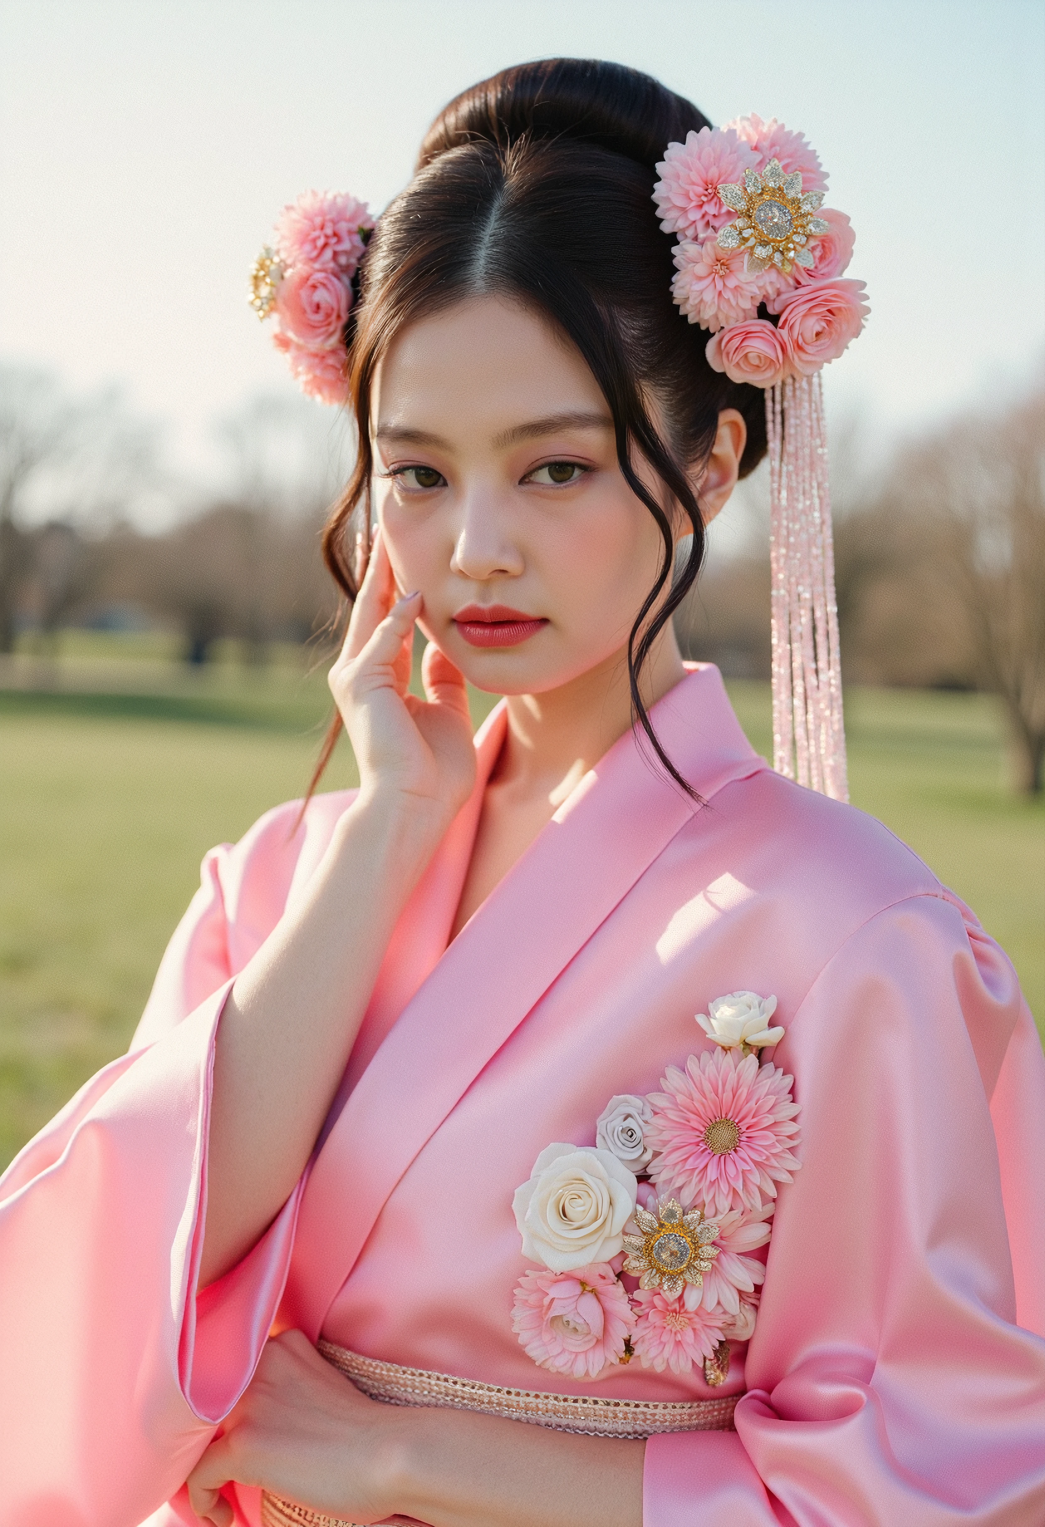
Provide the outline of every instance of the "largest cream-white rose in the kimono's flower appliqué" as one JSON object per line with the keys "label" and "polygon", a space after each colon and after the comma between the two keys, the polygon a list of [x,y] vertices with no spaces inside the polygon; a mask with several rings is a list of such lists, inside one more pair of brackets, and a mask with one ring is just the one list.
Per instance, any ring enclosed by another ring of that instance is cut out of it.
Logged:
{"label": "largest cream-white rose in the kimono's flower appliqu\u00e9", "polygon": [[522,1255],[552,1272],[610,1261],[623,1246],[637,1188],[613,1151],[548,1145],[512,1200]]}

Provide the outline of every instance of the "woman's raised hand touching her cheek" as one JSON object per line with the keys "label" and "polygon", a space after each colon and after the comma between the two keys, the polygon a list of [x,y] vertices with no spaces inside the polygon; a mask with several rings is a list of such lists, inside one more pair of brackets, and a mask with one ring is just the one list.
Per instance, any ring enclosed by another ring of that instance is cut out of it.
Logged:
{"label": "woman's raised hand touching her cheek", "polygon": [[330,690],[359,765],[361,796],[423,806],[442,832],[475,783],[475,748],[461,673],[429,646],[422,664],[426,699],[408,693],[420,594],[396,599],[380,531],[356,599]]}

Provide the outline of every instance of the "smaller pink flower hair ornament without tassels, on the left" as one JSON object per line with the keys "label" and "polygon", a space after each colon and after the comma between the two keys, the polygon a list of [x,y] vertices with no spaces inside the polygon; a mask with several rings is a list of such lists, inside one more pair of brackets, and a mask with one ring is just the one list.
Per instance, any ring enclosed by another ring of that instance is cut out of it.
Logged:
{"label": "smaller pink flower hair ornament without tassels, on the left", "polygon": [[273,243],[251,270],[247,301],[260,319],[273,318],[273,344],[309,397],[347,400],[345,325],[353,282],[374,218],[345,192],[306,191],[280,214]]}

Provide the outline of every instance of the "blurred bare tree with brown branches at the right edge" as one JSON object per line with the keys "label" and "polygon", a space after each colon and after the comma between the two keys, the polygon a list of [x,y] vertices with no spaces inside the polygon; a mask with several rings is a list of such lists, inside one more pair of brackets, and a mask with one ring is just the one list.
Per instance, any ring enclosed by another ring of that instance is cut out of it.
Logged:
{"label": "blurred bare tree with brown branches at the right edge", "polygon": [[911,452],[898,484],[932,531],[952,634],[1001,695],[1017,783],[1037,794],[1045,762],[1045,388],[972,415]]}

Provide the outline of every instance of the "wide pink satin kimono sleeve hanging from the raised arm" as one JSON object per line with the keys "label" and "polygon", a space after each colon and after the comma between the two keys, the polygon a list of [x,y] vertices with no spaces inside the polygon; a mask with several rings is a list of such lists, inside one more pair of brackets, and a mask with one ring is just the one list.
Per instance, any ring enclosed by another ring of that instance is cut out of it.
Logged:
{"label": "wide pink satin kimono sleeve hanging from the raised arm", "polygon": [[133,1527],[185,1480],[254,1371],[299,1188],[197,1296],[214,1038],[280,918],[293,808],[208,854],[128,1055],[0,1179],[0,1521]]}

